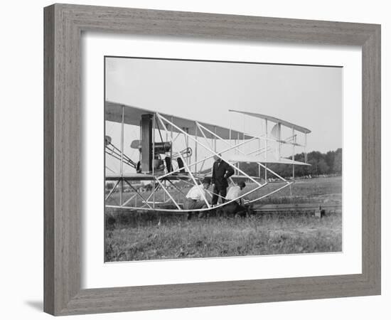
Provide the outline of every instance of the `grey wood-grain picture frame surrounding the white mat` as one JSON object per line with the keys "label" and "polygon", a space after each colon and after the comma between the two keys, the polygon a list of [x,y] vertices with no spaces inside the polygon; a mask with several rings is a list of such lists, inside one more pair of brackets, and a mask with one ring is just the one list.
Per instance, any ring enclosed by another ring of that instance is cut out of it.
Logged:
{"label": "grey wood-grain picture frame surrounding the white mat", "polygon": [[[44,309],[55,315],[380,294],[380,26],[55,4],[44,21]],[[363,273],[80,289],[82,31],[363,50]]]}

